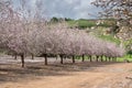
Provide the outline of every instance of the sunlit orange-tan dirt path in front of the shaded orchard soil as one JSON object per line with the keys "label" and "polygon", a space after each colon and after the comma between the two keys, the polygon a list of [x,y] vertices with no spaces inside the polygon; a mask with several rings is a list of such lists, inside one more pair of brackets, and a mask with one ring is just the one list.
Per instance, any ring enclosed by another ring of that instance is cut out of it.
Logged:
{"label": "sunlit orange-tan dirt path in front of the shaded orchard soil", "polygon": [[120,63],[89,67],[85,70],[62,70],[65,75],[41,76],[6,81],[0,88],[132,88],[132,64]]}

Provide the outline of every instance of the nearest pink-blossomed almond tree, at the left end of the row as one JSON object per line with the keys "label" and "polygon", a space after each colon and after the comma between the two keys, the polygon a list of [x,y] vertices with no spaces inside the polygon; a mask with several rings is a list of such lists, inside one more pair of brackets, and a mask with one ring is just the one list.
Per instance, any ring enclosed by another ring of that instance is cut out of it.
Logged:
{"label": "nearest pink-blossomed almond tree, at the left end of the row", "polygon": [[6,48],[21,56],[22,67],[24,67],[24,55],[34,53],[34,48],[31,52],[30,42],[33,41],[31,38],[37,34],[37,31],[35,26],[32,28],[32,31],[29,28],[29,24],[33,22],[28,21],[24,0],[21,1],[22,7],[19,11],[14,10],[12,4],[2,4],[0,36],[2,38],[1,43]]}

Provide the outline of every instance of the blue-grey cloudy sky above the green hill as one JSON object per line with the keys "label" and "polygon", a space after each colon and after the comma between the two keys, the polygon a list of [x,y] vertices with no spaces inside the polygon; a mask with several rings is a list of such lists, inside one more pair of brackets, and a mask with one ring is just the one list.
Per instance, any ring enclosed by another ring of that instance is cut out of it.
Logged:
{"label": "blue-grey cloudy sky above the green hill", "polygon": [[[35,1],[28,0],[29,4],[33,7]],[[72,18],[72,19],[92,19],[99,11],[90,3],[94,0],[42,0],[45,15],[47,18]],[[91,13],[94,15],[89,15]]]}

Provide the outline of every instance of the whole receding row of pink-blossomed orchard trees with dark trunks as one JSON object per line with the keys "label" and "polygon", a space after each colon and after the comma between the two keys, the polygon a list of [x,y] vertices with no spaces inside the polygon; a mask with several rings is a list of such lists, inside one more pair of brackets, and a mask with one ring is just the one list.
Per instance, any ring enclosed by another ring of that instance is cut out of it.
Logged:
{"label": "whole receding row of pink-blossomed orchard trees with dark trunks", "polygon": [[116,61],[116,57],[124,54],[124,50],[116,44],[99,40],[77,29],[68,29],[65,23],[43,25],[42,28],[31,28],[31,25],[12,28],[9,24],[8,28],[0,29],[0,46],[20,55],[22,67],[24,67],[24,56],[26,55],[42,55],[47,65],[47,55],[59,55],[63,64],[64,56],[70,56],[75,63],[75,56],[82,56],[82,61],[85,61],[85,55],[90,57],[95,55],[97,61],[99,56]]}

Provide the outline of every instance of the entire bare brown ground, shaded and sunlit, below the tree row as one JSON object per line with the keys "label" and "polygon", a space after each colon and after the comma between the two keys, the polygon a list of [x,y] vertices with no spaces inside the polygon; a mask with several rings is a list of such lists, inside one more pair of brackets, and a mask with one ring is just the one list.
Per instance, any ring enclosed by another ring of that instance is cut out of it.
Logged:
{"label": "entire bare brown ground, shaded and sunlit, below the tree row", "polygon": [[0,58],[0,88],[132,88],[132,63],[13,61]]}

